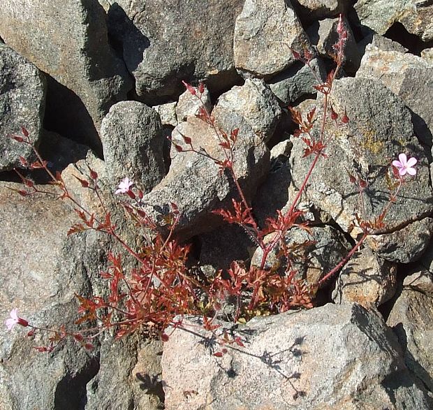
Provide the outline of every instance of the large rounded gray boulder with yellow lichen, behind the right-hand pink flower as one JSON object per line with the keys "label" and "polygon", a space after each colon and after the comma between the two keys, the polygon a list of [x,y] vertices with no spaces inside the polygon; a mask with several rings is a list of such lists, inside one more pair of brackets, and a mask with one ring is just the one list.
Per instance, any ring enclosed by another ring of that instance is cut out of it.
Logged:
{"label": "large rounded gray boulder with yellow lichen, behind the right-hand pink flower", "polygon": [[[356,213],[372,220],[389,200],[388,182],[394,181],[390,162],[405,152],[418,159],[417,176],[407,178],[386,214],[386,227],[376,233],[390,233],[430,215],[433,196],[427,159],[413,135],[411,115],[402,100],[379,81],[344,78],[335,81],[330,103],[337,113],[346,110],[350,121],[337,129],[328,122],[327,135],[332,133],[325,151],[328,158],[320,159],[314,168],[306,198],[328,212],[344,230],[356,224]],[[300,138],[293,140],[290,162],[294,186],[301,186],[312,161],[312,156],[302,159],[304,147]],[[365,213],[349,173],[368,183],[363,196]],[[355,226],[351,235],[356,237],[358,233],[360,229]]]}

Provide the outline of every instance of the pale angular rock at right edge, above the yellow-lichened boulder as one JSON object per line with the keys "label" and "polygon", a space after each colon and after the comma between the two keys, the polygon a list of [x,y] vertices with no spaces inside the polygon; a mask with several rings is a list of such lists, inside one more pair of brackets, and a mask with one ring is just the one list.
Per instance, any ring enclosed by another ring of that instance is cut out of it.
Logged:
{"label": "pale angular rock at right edge, above the yellow-lichened boulder", "polygon": [[357,77],[383,82],[411,110],[419,140],[432,145],[433,64],[421,57],[367,46]]}

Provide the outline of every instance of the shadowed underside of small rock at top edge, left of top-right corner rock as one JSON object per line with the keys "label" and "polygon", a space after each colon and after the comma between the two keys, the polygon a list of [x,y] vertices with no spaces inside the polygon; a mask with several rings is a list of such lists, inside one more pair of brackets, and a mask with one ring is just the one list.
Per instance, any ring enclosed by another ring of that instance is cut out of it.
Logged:
{"label": "shadowed underside of small rock at top edge, left of top-right corner rock", "polygon": [[340,13],[346,15],[351,5],[349,0],[291,0],[291,3],[302,22],[323,20]]}

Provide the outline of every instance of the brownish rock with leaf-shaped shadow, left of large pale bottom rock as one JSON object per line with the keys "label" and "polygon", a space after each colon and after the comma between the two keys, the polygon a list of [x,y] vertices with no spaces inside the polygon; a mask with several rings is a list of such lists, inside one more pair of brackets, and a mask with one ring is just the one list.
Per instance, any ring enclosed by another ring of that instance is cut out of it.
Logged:
{"label": "brownish rock with leaf-shaped shadow, left of large pale bottom rock", "polygon": [[85,409],[161,409],[161,353],[161,342],[142,342],[137,334],[105,340],[101,368],[87,384]]}

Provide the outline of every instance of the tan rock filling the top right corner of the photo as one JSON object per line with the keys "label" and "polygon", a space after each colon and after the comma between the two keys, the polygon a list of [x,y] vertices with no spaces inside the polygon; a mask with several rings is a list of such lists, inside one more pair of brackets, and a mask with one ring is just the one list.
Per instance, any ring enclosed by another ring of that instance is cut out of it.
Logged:
{"label": "tan rock filling the top right corner of the photo", "polygon": [[355,11],[362,25],[378,34],[385,34],[395,22],[400,22],[422,41],[433,39],[433,5],[430,1],[393,0],[384,7],[381,1],[360,0]]}

